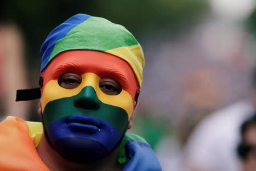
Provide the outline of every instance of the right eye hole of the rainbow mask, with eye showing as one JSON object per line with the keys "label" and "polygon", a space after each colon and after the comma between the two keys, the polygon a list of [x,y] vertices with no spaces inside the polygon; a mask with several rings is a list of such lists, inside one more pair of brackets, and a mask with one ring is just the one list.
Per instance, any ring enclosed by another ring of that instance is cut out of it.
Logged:
{"label": "right eye hole of the rainbow mask, with eye showing", "polygon": [[100,90],[108,95],[117,95],[121,93],[122,87],[116,80],[111,78],[101,78],[99,82]]}

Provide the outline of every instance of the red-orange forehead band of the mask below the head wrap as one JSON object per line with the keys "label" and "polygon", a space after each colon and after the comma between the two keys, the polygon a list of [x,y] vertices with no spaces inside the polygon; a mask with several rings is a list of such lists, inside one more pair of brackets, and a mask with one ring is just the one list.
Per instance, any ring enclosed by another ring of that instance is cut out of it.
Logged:
{"label": "red-orange forehead band of the mask below the head wrap", "polygon": [[95,73],[100,78],[113,78],[134,88],[139,87],[131,66],[114,55],[99,51],[72,50],[62,52],[42,72],[44,84],[64,73]]}

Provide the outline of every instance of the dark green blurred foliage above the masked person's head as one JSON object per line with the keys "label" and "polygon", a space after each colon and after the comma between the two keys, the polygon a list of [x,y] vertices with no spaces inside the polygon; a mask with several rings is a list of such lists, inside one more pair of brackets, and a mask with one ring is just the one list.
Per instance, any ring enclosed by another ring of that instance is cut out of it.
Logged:
{"label": "dark green blurred foliage above the masked person's head", "polygon": [[[160,30],[188,29],[208,10],[204,0],[2,0],[1,20],[15,22],[26,37],[30,62],[38,61],[40,44],[47,34],[71,15],[102,16],[127,27],[137,39]],[[176,33],[176,32],[175,32]]]}

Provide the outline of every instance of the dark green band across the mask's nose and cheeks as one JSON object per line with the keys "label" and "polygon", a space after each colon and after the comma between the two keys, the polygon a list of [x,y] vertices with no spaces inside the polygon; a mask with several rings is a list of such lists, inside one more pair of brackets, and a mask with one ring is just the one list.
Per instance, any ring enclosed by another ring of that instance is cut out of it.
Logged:
{"label": "dark green band across the mask's nose and cheeks", "polygon": [[[97,104],[99,104],[99,109],[84,110],[74,106],[74,101],[76,99],[84,98],[85,96],[90,97],[90,101],[94,100]],[[47,103],[43,112],[46,127],[48,127],[55,120],[76,114],[84,114],[86,116],[92,116],[104,120],[119,130],[120,133],[125,130],[127,126],[125,123],[128,123],[127,112],[121,107],[107,105],[101,102],[99,98],[97,98],[96,92],[92,86],[84,87],[84,89],[78,95],[56,99]]]}

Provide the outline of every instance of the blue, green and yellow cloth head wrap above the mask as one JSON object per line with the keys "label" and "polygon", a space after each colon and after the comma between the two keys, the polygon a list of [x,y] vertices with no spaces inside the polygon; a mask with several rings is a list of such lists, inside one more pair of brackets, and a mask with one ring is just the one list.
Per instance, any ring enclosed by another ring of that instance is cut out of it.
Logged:
{"label": "blue, green and yellow cloth head wrap above the mask", "polygon": [[144,55],[140,44],[126,28],[104,18],[77,14],[56,27],[40,49],[41,72],[56,55],[74,49],[110,53],[128,62],[141,87]]}

